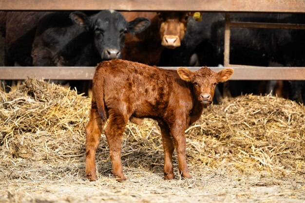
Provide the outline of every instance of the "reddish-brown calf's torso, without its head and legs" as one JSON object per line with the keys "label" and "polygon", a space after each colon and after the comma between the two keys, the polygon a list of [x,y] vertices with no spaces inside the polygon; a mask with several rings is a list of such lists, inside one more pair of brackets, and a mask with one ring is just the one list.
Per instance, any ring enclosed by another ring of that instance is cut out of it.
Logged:
{"label": "reddish-brown calf's torso, without its head and legs", "polygon": [[155,118],[180,100],[192,102],[189,85],[176,71],[119,59],[98,64],[93,85],[97,103],[103,99],[107,109],[133,117]]}

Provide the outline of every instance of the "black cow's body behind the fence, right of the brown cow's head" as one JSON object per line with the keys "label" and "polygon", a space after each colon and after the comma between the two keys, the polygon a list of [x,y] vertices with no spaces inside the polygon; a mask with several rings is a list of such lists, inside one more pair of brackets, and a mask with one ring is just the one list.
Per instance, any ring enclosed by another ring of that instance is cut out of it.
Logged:
{"label": "black cow's body behind the fence, right of the brown cow's head", "polygon": [[[172,50],[174,63],[171,65],[191,65],[189,63],[193,54],[197,55],[200,66],[223,64],[224,19],[225,15],[222,13],[203,13],[202,21],[189,18],[181,47]],[[305,15],[231,14],[231,20],[305,24]],[[230,63],[268,66],[276,62],[284,66],[305,66],[304,41],[304,30],[231,28]],[[237,85],[240,86],[240,82],[230,81],[230,83],[238,83]],[[303,103],[304,88],[303,90],[301,88],[304,87],[304,81],[290,83],[291,98]]]}

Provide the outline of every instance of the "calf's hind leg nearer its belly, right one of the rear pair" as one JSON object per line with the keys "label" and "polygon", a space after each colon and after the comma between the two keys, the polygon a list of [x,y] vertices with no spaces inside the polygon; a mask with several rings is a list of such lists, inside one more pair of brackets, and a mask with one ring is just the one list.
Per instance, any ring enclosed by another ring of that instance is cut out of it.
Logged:
{"label": "calf's hind leg nearer its belly, right one of the rear pair", "polygon": [[107,142],[109,145],[109,154],[112,163],[114,177],[118,182],[126,180],[121,163],[121,140],[128,121],[128,117],[122,113],[109,110],[109,122],[105,129]]}

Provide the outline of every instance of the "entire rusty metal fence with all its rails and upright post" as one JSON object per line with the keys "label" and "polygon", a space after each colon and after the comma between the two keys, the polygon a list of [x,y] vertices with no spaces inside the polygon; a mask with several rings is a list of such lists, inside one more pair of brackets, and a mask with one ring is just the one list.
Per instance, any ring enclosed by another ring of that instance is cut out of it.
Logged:
{"label": "entire rusty metal fence with all its rails and upright post", "polygon": [[[172,6],[174,5],[174,6]],[[232,80],[304,80],[305,67],[249,67],[245,65],[231,65],[229,63],[229,37],[231,27],[255,27],[255,28],[282,28],[282,29],[305,29],[304,24],[276,24],[276,23],[247,23],[231,22],[229,12],[270,12],[270,13],[304,13],[304,0],[261,0],[259,3],[243,0],[204,0],[197,1],[177,1],[170,0],[158,2],[140,0],[114,0],[104,2],[98,0],[86,1],[33,1],[3,0],[0,2],[2,11],[22,11],[22,10],[103,10],[114,9],[118,11],[201,11],[201,12],[226,12],[225,31],[225,54],[224,65],[233,67],[235,74]],[[166,67],[171,68],[171,67]],[[172,67],[176,69],[176,67]],[[75,69],[77,71],[75,71]],[[198,70],[199,67],[191,67],[191,70]],[[217,71],[217,68],[212,70]],[[27,77],[44,77],[46,79],[92,79],[94,67],[0,67],[0,79],[26,79]]]}

